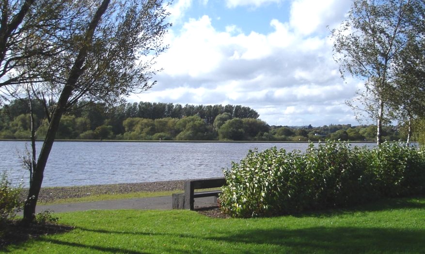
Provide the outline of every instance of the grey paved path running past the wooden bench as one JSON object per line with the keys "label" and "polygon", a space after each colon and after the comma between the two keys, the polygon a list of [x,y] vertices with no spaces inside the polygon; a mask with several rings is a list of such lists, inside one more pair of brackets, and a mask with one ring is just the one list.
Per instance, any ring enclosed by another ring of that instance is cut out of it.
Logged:
{"label": "grey paved path running past the wooden bench", "polygon": [[[195,199],[195,208],[208,206],[217,206],[217,204],[214,203],[214,197],[203,197]],[[58,205],[37,205],[36,212],[42,212],[47,209],[52,210],[53,212],[103,209],[172,209],[172,197],[171,195],[169,195],[159,197],[79,202]]]}

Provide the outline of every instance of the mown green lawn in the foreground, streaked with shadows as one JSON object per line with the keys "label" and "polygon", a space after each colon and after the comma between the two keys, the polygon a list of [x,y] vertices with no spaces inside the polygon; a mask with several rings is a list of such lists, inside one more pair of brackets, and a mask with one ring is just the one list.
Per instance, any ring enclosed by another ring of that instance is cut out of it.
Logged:
{"label": "mown green lawn in the foreground, streaked with shadows", "polygon": [[10,253],[425,253],[425,197],[256,219],[189,210],[56,214],[76,228],[9,246]]}

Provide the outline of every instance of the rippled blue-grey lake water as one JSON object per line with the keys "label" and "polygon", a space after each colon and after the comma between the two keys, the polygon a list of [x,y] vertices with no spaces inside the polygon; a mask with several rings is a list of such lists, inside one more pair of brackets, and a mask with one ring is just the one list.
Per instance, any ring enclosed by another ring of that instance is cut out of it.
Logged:
{"label": "rippled blue-grey lake water", "polygon": [[[37,143],[37,150],[41,145]],[[222,168],[239,162],[249,149],[273,146],[291,151],[305,150],[308,144],[55,142],[43,186],[223,177]],[[0,141],[0,171],[7,171],[14,183],[20,179],[28,182],[29,173],[22,169],[19,159],[24,151],[25,142]]]}

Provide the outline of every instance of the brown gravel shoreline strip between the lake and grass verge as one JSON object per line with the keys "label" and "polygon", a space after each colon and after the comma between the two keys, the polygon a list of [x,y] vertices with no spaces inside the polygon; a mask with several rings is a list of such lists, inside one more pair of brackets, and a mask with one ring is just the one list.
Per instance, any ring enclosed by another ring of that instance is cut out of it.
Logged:
{"label": "brown gravel shoreline strip between the lake and grass verge", "polygon": [[[38,196],[40,202],[52,202],[58,199],[79,198],[99,194],[125,194],[135,192],[183,191],[185,180],[100,184],[71,187],[41,188]],[[23,190],[26,198],[28,189]]]}

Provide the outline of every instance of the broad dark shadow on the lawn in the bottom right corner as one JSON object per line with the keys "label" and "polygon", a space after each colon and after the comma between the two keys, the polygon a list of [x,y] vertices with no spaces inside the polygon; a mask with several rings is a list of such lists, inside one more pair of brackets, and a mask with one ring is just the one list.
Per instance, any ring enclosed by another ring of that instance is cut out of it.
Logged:
{"label": "broad dark shadow on the lawn in the bottom right corner", "polygon": [[235,244],[271,244],[303,253],[425,253],[425,230],[312,227],[297,230],[246,230],[236,235],[210,239]]}

